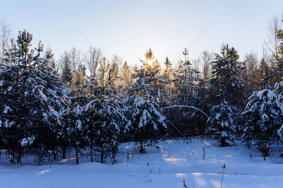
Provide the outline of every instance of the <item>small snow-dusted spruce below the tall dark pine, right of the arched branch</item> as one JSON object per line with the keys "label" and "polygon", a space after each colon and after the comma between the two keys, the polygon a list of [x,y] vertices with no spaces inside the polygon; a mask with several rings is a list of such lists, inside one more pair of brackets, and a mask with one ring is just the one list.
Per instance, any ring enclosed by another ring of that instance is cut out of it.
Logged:
{"label": "small snow-dusted spruce below the tall dark pine, right of the arched branch", "polygon": [[233,120],[233,107],[226,101],[210,110],[207,122],[210,124],[209,132],[213,133],[221,147],[230,146],[234,142],[235,123]]}

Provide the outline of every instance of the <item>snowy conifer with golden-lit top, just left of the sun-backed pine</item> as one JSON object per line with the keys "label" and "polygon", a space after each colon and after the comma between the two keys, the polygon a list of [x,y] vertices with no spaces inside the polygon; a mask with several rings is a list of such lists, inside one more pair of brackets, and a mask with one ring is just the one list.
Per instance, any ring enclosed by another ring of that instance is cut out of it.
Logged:
{"label": "snowy conifer with golden-lit top, just left of the sun-backed pine", "polygon": [[[116,152],[119,146],[119,134],[122,125],[127,121],[124,116],[124,106],[113,90],[113,82],[116,78],[108,74],[110,65],[104,58],[100,62],[100,70],[95,84],[97,95],[89,95],[89,103],[85,111],[88,114],[87,126],[91,153],[93,145],[99,148],[100,162],[104,162],[104,155],[109,154],[112,162],[115,162]],[[92,87],[95,88],[95,87]]]}

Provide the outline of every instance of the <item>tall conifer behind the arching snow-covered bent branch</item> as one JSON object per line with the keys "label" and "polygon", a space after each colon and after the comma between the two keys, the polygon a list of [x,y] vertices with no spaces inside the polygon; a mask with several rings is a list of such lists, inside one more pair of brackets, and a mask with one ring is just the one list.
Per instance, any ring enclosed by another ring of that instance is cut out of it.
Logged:
{"label": "tall conifer behind the arching snow-covered bent branch", "polygon": [[[181,63],[178,70],[173,74],[172,79],[175,89],[172,92],[170,104],[202,108],[201,105],[203,103],[199,100],[200,83],[202,81],[199,77],[199,71],[193,69],[189,61],[181,61]],[[178,116],[176,117],[174,114],[178,114]],[[186,138],[188,138],[189,135],[195,135],[196,132],[203,130],[199,125],[205,125],[207,120],[205,118],[205,121],[203,121],[204,118],[202,118],[202,114],[191,108],[186,110],[180,108],[168,109],[166,116],[170,120],[172,127],[174,127],[174,131],[178,129],[176,132],[178,136],[180,129],[182,137],[185,135]]]}

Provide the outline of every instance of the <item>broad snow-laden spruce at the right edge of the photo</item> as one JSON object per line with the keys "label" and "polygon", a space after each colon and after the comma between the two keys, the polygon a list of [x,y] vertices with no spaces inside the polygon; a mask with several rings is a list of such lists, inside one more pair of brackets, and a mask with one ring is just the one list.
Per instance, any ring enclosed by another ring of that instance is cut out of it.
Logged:
{"label": "broad snow-laden spruce at the right edge of the photo", "polygon": [[283,107],[274,91],[269,89],[268,81],[271,73],[265,74],[265,79],[262,80],[263,89],[253,92],[245,112],[242,113],[247,120],[242,139],[248,146],[251,141],[255,141],[264,160],[266,156],[269,156],[269,145],[278,137],[277,133],[283,120]]}

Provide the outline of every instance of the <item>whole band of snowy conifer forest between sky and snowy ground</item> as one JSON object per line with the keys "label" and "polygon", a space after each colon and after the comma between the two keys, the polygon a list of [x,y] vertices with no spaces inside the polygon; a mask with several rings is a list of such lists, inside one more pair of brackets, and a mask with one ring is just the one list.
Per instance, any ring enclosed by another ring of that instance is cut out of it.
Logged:
{"label": "whole band of snowy conifer forest between sky and snowy ground", "polygon": [[[26,165],[30,158],[42,166],[74,157],[74,164],[116,165],[121,148],[131,147],[128,166],[130,157],[162,152],[168,140],[195,139],[210,140],[220,150],[241,145],[251,161],[254,155],[262,162],[271,156],[283,160],[283,17],[272,23],[262,52],[239,54],[233,44],[219,41],[218,49],[204,46],[195,59],[193,46],[176,60],[160,59],[149,47],[129,63],[105,55],[99,44],[87,51],[71,46],[54,56],[52,46],[43,45],[47,41],[34,39],[40,34],[23,28],[13,36],[2,21],[1,160]],[[201,147],[198,155],[190,149],[188,160],[201,155],[205,161]],[[220,169],[225,183],[225,163]],[[182,187],[188,178],[182,175]]]}

